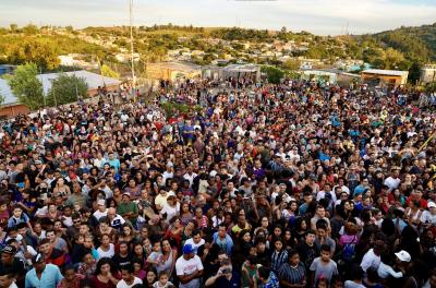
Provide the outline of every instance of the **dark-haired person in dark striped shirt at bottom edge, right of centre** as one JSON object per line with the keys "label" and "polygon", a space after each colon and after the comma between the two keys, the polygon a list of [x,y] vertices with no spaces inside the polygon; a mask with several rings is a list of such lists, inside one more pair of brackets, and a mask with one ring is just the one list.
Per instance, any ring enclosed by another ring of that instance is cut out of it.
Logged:
{"label": "dark-haired person in dark striped shirt at bottom edge, right of centre", "polygon": [[304,264],[300,261],[300,255],[296,250],[288,252],[288,262],[281,265],[278,276],[281,287],[303,288],[306,286],[306,269]]}

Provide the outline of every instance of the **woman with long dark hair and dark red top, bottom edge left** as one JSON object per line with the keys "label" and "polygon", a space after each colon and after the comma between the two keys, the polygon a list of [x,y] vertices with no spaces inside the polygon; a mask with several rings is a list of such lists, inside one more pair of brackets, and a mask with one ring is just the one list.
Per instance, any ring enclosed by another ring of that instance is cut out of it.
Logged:
{"label": "woman with long dark hair and dark red top, bottom edge left", "polygon": [[95,288],[116,288],[120,279],[116,265],[108,257],[98,261],[96,272],[93,277]]}

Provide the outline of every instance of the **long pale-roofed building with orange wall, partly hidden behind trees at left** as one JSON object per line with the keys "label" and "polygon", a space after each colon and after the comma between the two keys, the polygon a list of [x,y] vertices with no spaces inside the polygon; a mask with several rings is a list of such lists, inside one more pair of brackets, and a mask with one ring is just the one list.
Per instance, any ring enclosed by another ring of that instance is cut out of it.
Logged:
{"label": "long pale-roofed building with orange wall, partly hidden behind trees at left", "polygon": [[[106,86],[108,92],[118,91],[121,81],[111,77],[105,77],[96,73],[92,73],[85,70],[64,72],[66,75],[75,75],[83,79],[88,85],[88,96],[95,96],[99,87]],[[49,73],[39,74],[36,77],[43,83],[44,94],[47,95],[51,88],[53,80],[59,77],[61,73]],[[8,82],[0,79],[0,94],[4,96],[4,103],[0,108],[0,116],[13,117],[19,113],[28,113],[29,109],[25,105],[21,104],[16,96],[11,91]]]}

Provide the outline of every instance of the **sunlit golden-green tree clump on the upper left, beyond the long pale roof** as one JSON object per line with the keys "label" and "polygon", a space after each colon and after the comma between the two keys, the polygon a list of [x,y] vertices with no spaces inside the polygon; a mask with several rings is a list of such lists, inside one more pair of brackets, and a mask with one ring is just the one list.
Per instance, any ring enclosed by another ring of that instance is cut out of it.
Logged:
{"label": "sunlit golden-green tree clump on the upper left, beyond the long pale roof", "polygon": [[53,46],[34,39],[15,43],[9,47],[7,56],[8,60],[14,64],[33,62],[44,70],[53,70],[60,64]]}

